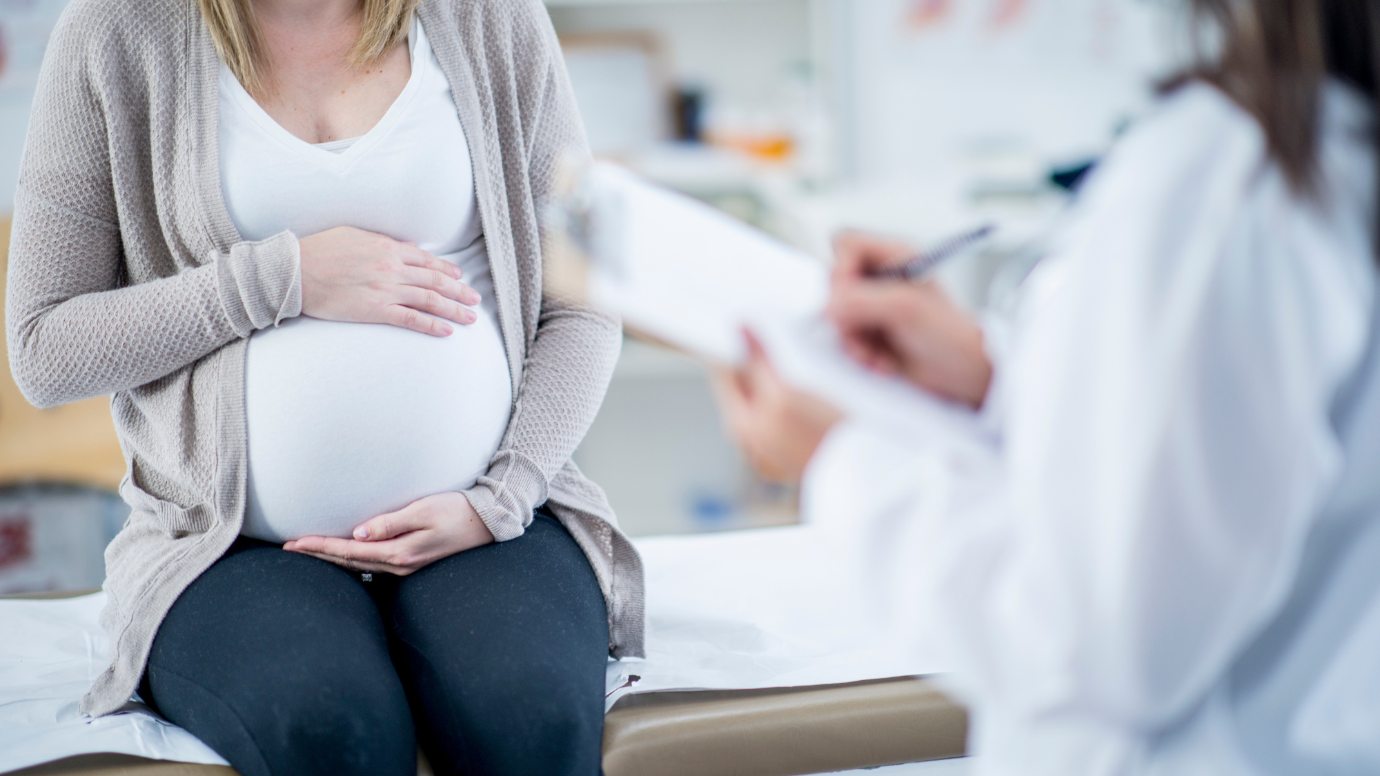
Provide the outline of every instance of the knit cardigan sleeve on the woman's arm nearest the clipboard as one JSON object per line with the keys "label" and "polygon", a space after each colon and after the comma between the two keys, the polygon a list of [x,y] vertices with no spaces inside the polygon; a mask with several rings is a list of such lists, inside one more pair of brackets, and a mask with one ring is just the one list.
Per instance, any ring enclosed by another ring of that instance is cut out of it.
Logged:
{"label": "knit cardigan sleeve on the woman's arm nearest the clipboard", "polygon": [[[588,159],[589,148],[545,8],[537,0],[519,0],[519,6],[513,46],[520,46],[524,62],[540,68],[520,90],[529,93],[523,106],[527,185],[540,206],[555,186],[562,160]],[[599,411],[621,344],[617,318],[578,300],[542,293],[508,434],[489,471],[465,492],[495,540],[522,536],[533,508],[546,500],[551,479]]]}

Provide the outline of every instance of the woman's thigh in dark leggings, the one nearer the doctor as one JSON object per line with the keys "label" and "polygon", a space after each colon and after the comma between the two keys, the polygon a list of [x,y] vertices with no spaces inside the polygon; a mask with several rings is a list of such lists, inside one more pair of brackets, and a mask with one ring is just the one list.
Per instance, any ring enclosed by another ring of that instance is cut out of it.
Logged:
{"label": "woman's thigh in dark leggings, the one nearer the doctor", "polygon": [[600,772],[604,599],[553,516],[389,587],[393,660],[437,773]]}

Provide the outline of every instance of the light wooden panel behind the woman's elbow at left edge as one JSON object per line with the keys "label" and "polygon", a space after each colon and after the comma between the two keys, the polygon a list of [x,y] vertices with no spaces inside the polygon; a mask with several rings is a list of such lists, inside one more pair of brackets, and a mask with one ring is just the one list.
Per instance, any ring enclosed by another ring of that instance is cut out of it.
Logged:
{"label": "light wooden panel behind the woman's elbow at left edge", "polygon": [[[8,257],[10,218],[3,218],[0,278]],[[0,318],[4,318],[3,287]],[[63,482],[115,490],[124,476],[124,456],[115,436],[109,396],[40,410],[14,384],[3,337],[0,362],[4,363],[0,369],[0,486]]]}

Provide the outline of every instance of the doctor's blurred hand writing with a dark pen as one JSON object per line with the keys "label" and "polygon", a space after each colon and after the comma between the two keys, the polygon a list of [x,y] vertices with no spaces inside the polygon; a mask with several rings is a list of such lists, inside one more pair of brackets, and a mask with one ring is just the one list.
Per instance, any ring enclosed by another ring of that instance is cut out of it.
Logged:
{"label": "doctor's blurred hand writing with a dark pen", "polygon": [[915,255],[901,243],[840,235],[828,316],[862,366],[898,374],[945,399],[981,407],[992,381],[977,322],[934,280],[876,280],[869,272]]}

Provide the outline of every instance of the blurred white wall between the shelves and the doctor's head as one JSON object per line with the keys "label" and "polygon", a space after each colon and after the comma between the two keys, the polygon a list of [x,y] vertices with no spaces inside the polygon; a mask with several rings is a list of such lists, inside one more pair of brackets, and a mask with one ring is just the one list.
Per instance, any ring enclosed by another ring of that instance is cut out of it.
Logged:
{"label": "blurred white wall between the shelves and the doctor's head", "polygon": [[1181,61],[1179,6],[835,0],[846,166],[879,181],[992,146],[1042,159],[1097,153],[1145,109],[1154,76]]}

